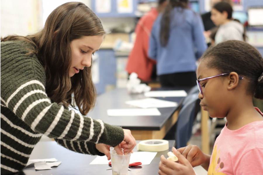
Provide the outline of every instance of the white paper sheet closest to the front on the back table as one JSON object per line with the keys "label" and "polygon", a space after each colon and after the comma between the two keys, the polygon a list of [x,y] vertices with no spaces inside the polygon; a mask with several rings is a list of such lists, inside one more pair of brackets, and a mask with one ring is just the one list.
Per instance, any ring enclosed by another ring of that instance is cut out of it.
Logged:
{"label": "white paper sheet closest to the front on the back table", "polygon": [[157,108],[149,109],[108,109],[108,116],[153,116],[161,115]]}

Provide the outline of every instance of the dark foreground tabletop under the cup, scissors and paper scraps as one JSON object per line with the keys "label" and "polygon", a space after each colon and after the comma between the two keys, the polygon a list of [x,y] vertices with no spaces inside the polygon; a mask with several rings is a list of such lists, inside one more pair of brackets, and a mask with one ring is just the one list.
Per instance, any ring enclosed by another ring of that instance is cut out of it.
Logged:
{"label": "dark foreground tabletop under the cup, scissors and paper scraps", "polygon": [[[138,144],[140,141],[136,141]],[[129,175],[154,175],[158,174],[158,164],[160,162],[161,155],[167,156],[168,151],[172,150],[175,145],[174,140],[169,141],[169,150],[158,152],[150,165],[140,165],[137,167],[130,167]],[[134,152],[136,152],[136,147]],[[23,171],[15,173],[13,175],[111,175],[112,170],[106,170],[110,168],[107,164],[102,165],[90,165],[90,162],[95,159],[96,156],[84,155],[70,151],[55,141],[39,142],[35,146],[30,159],[47,159],[56,158],[58,161],[62,161],[58,167],[52,167],[49,170],[35,170],[34,165],[27,166]]]}

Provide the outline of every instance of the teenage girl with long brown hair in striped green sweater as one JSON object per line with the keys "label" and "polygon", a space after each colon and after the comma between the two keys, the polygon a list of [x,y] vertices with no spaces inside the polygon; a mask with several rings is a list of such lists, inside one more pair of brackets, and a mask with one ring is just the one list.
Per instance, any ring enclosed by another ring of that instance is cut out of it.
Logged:
{"label": "teenage girl with long brown hair in striped green sweater", "polygon": [[[56,8],[44,29],[26,37],[1,38],[1,174],[22,170],[44,134],[75,152],[132,152],[131,132],[83,115],[94,107],[92,54],[105,31],[83,3]],[[74,97],[72,98],[72,94]]]}

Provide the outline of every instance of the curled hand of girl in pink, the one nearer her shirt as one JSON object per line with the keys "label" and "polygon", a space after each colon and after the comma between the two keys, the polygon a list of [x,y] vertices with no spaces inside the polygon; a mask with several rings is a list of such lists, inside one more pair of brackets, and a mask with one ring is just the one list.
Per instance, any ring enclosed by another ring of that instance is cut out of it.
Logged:
{"label": "curled hand of girl in pink, the one nearer her shirt", "polygon": [[202,165],[204,169],[208,169],[210,162],[210,155],[204,154],[196,145],[188,145],[177,149],[193,167]]}

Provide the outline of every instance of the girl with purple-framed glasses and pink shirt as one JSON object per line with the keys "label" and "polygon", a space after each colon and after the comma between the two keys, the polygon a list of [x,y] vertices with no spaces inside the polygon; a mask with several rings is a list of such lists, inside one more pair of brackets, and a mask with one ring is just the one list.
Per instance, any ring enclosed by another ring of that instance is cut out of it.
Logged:
{"label": "girl with purple-framed glasses and pink shirt", "polygon": [[212,155],[196,145],[173,148],[179,163],[161,157],[160,175],[195,174],[201,165],[208,175],[262,174],[263,113],[252,98],[263,100],[263,58],[244,41],[229,40],[210,47],[197,68],[200,105],[210,117],[227,123]]}

